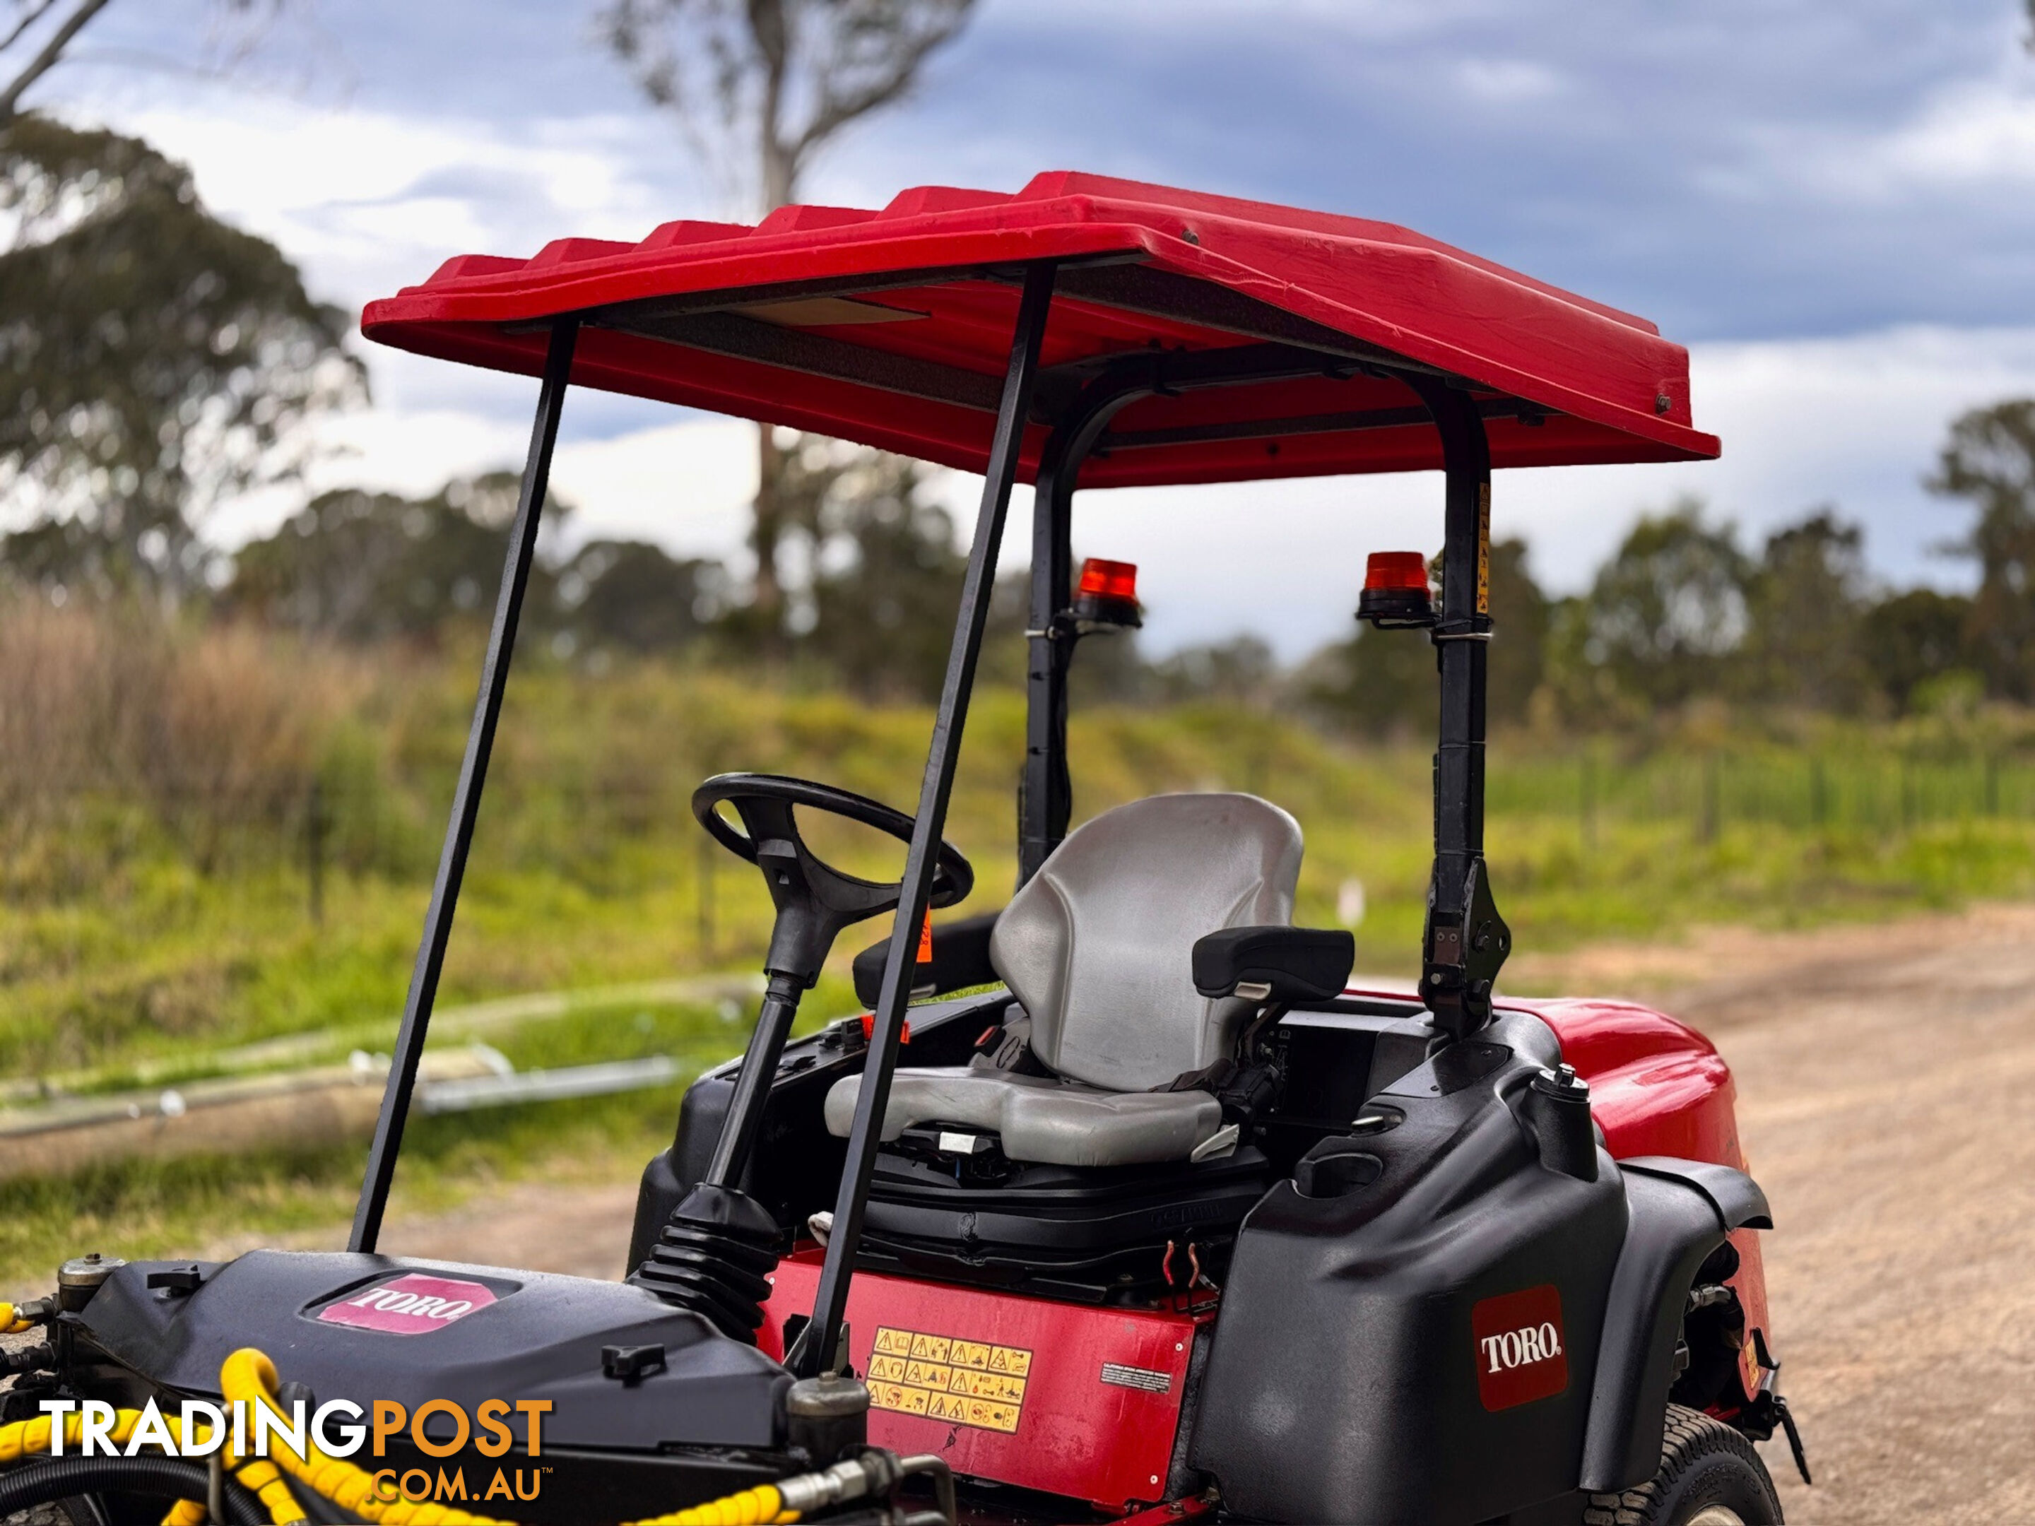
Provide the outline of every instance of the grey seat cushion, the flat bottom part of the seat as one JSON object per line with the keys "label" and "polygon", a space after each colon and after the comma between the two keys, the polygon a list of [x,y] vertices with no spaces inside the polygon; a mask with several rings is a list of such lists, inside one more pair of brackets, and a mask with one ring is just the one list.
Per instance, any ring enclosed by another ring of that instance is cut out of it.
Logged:
{"label": "grey seat cushion, the flat bottom part of the seat", "polygon": [[[861,1076],[826,1093],[826,1129],[847,1137]],[[914,1123],[965,1123],[1003,1137],[1003,1154],[1042,1166],[1156,1166],[1186,1160],[1223,1127],[1223,1109],[1205,1091],[1109,1093],[1052,1076],[1005,1070],[934,1068],[891,1076],[883,1137]]]}

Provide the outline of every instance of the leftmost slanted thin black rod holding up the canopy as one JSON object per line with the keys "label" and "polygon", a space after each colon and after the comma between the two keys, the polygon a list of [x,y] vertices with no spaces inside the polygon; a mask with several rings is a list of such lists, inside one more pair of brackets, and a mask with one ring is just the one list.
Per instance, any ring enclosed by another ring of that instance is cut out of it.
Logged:
{"label": "leftmost slanted thin black rod holding up the canopy", "polygon": [[438,879],[431,881],[431,905],[423,914],[423,940],[417,944],[417,964],[409,975],[403,1025],[395,1034],[383,1111],[374,1119],[374,1143],[368,1146],[368,1172],[360,1184],[360,1205],[354,1209],[354,1233],[346,1241],[346,1247],[354,1251],[374,1249],[381,1239],[383,1213],[389,1207],[395,1158],[403,1148],[403,1123],[409,1117],[409,1099],[417,1089],[417,1062],[423,1058],[423,1040],[431,1028],[438,977],[446,966],[452,914],[460,903],[466,855],[474,842],[474,820],[480,816],[480,789],[488,777],[488,755],[495,751],[495,724],[503,712],[503,690],[509,684],[509,659],[515,655],[515,627],[523,614],[529,566],[537,553],[537,521],[551,478],[551,446],[558,444],[558,415],[566,403],[572,348],[578,336],[578,317],[560,317],[551,324],[551,344],[543,358],[543,387],[537,393],[537,419],[531,423],[529,458],[523,462],[523,490],[517,496],[515,521],[509,525],[509,555],[503,562],[501,590],[495,594],[495,625],[488,629],[488,651],[480,661],[474,724],[466,732],[466,757],[460,763],[460,781],[452,791],[452,820],[446,826],[446,844],[438,853]]}

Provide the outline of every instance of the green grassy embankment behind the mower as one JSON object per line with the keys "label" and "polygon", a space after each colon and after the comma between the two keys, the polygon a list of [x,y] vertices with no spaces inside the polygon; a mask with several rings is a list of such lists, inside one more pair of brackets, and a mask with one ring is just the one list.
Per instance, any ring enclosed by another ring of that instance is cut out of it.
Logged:
{"label": "green grassy embankment behind the mower", "polygon": [[[315,696],[301,777],[317,779],[326,822],[322,920],[309,916],[307,789],[299,802],[230,769],[204,787],[179,777],[153,794],[28,798],[16,785],[0,903],[0,1076],[106,1087],[165,1064],[204,1074],[214,1050],[283,1034],[330,1032],[340,1054],[364,1025],[393,1034],[464,739],[470,661],[263,661],[277,667],[260,680],[273,690]],[[238,671],[240,690],[250,682]],[[230,737],[220,706],[199,712]],[[753,969],[767,899],[755,871],[702,855],[692,785],[749,767],[908,804],[926,724],[918,708],[698,671],[519,673],[442,1001]],[[1980,745],[1974,735],[1734,732],[1644,755],[1500,739],[1490,820],[1500,905],[1522,946],[1545,948],[2027,893],[2035,771],[2000,737]],[[1011,881],[1020,755],[1018,696],[985,694],[948,832],[975,859],[979,889],[956,914],[997,905]],[[1298,920],[1331,922],[1339,889],[1357,879],[1368,899],[1359,969],[1412,969],[1427,873],[1420,749],[1353,749],[1272,716],[1184,706],[1077,714],[1074,759],[1081,816],[1158,789],[1235,787],[1280,802],[1309,834]],[[236,812],[256,796],[258,810]],[[902,850],[816,836],[845,867],[873,877],[899,867]],[[808,1023],[853,1009],[842,977],[863,942],[851,934],[836,950]],[[739,1048],[745,1017],[588,1005],[499,1048],[525,1068],[665,1052],[690,1074]],[[667,1137],[676,1101],[670,1089],[419,1119],[397,1207],[429,1209],[525,1174],[627,1176]],[[136,1255],[228,1231],[330,1225],[346,1217],[358,1168],[358,1148],[340,1148],[0,1184],[0,1284],[39,1282],[57,1255],[90,1247]]]}

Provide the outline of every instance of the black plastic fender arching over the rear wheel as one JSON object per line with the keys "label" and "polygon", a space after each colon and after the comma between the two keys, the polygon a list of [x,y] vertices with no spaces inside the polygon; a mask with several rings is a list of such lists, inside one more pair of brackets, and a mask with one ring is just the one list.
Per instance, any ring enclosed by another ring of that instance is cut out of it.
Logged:
{"label": "black plastic fender arching over the rear wheel", "polygon": [[1581,1487],[1589,1493],[1616,1493],[1654,1475],[1695,1272],[1730,1231],[1772,1229],[1758,1182],[1730,1166],[1636,1156],[1618,1168],[1626,1243],[1612,1272],[1583,1432]]}

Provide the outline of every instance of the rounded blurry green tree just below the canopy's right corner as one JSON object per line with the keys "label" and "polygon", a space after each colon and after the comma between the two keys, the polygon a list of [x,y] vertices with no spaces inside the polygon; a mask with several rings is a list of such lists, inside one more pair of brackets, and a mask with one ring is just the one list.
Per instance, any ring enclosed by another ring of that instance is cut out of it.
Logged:
{"label": "rounded blurry green tree just below the canopy's right corner", "polygon": [[1750,568],[1732,525],[1683,498],[1632,527],[1583,606],[1583,657],[1654,706],[1722,694],[1746,633]]}

